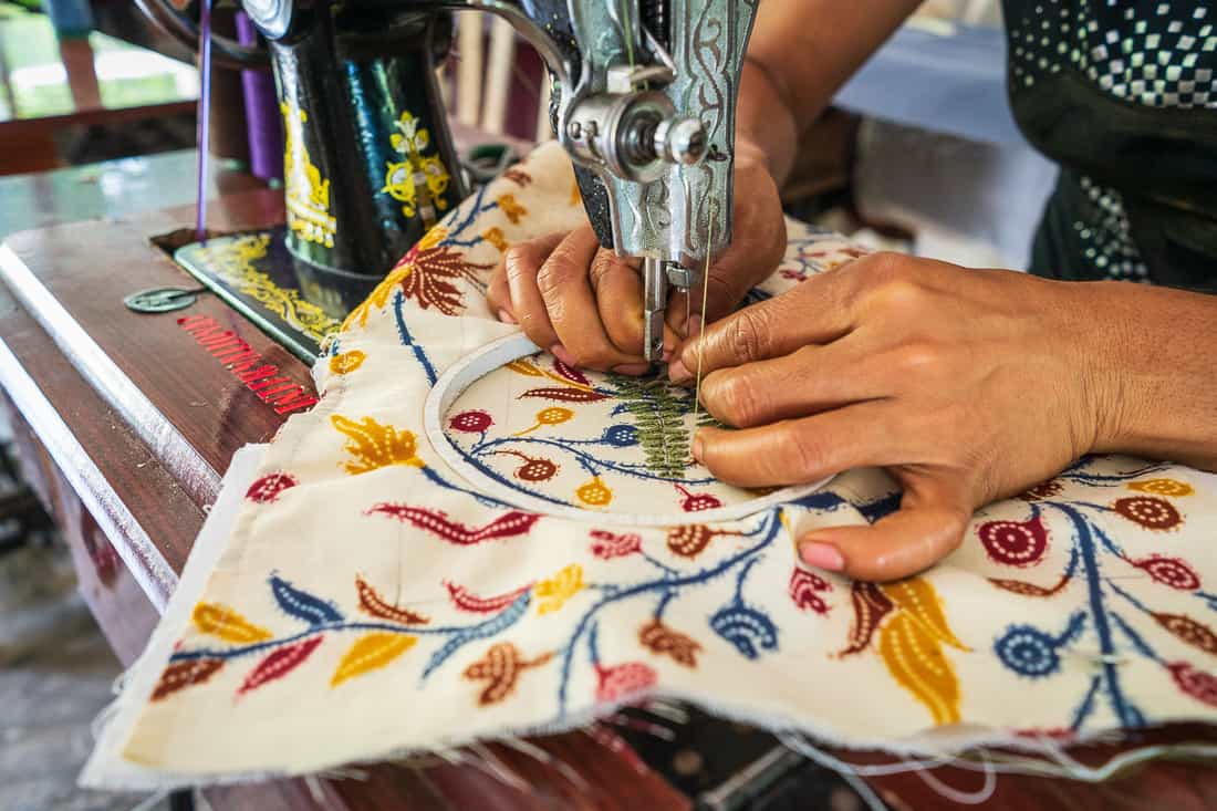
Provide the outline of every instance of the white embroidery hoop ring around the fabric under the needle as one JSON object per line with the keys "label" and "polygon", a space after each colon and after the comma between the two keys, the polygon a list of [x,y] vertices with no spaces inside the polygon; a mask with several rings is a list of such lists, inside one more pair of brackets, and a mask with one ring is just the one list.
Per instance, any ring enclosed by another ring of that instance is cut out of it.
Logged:
{"label": "white embroidery hoop ring around the fabric under the needle", "polygon": [[[456,471],[470,487],[479,493],[499,499],[512,507],[526,509],[544,515],[571,519],[588,524],[604,525],[610,519],[618,526],[677,526],[683,524],[710,524],[719,521],[733,521],[753,515],[762,510],[797,500],[819,490],[830,481],[831,477],[809,485],[795,487],[783,487],[780,490],[757,494],[753,498],[736,503],[712,507],[710,509],[694,509],[664,513],[630,511],[622,509],[601,509],[596,507],[579,507],[577,504],[563,504],[551,498],[526,492],[525,488],[514,486],[505,476],[495,475],[486,465],[479,465],[471,460],[471,454],[465,452],[454,442],[452,434],[445,430],[445,424],[452,425],[452,414],[461,397],[476,382],[495,373],[509,364],[521,362],[537,354],[540,349],[525,335],[510,335],[493,341],[481,349],[466,356],[453,364],[431,388],[424,406],[424,429],[427,440],[434,451],[448,465]],[[539,373],[544,374],[544,373]],[[459,410],[459,409],[458,409]],[[488,423],[489,416],[481,410],[461,412],[466,414],[483,415]],[[466,430],[466,429],[461,429]],[[484,434],[483,434],[484,436]],[[629,446],[639,448],[639,444]],[[595,479],[595,477],[594,477]],[[675,485],[669,480],[655,480],[657,487]],[[724,487],[719,485],[719,487]],[[733,488],[736,490],[736,488]],[[748,491],[739,491],[747,493]],[[636,498],[629,499],[632,505],[638,504]],[[633,509],[633,508],[632,508]]]}

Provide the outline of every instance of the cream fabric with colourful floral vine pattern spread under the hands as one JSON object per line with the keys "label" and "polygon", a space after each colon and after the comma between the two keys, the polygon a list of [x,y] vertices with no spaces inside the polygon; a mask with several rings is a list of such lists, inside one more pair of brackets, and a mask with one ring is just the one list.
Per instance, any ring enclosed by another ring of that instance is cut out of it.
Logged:
{"label": "cream fabric with colourful floral vine pattern spread under the hands", "polygon": [[[896,509],[876,471],[747,519],[690,511],[668,528],[615,513],[589,525],[472,491],[427,443],[424,401],[444,369],[516,330],[483,295],[501,251],[581,217],[565,156],[543,147],[453,211],[350,315],[316,367],[321,402],[269,446],[209,578],[179,589],[163,653],[155,641],[133,673],[129,734],[103,745],[197,779],[299,772],[560,729],[657,693],[890,749],[1217,718],[1208,474],[1083,460],[977,513],[932,571],[882,586],[807,571],[793,548],[814,526]],[[857,255],[795,224],[790,235],[755,298]],[[596,388],[545,356],[527,363],[505,374]],[[539,424],[526,436],[641,442],[628,409],[576,436],[548,432],[565,421],[543,409],[582,403],[511,402]],[[498,418],[458,406],[449,419],[472,441]],[[521,486],[548,481],[543,457],[577,472],[576,490],[596,475],[565,449],[522,447],[494,457]],[[671,500],[669,483],[660,491]]]}

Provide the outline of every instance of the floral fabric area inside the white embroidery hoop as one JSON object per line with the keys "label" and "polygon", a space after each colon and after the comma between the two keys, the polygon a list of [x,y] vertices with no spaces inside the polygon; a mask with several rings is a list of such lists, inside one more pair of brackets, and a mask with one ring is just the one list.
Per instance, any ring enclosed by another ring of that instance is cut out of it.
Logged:
{"label": "floral fabric area inside the white embroidery hoop", "polygon": [[[673,524],[686,513],[706,513],[703,520],[755,513],[758,498],[790,494],[724,485],[695,462],[692,397],[664,376],[584,371],[534,354],[469,386],[444,415],[443,434],[462,479],[538,510],[647,510],[662,518],[652,522]],[[714,420],[701,412],[697,423]]]}

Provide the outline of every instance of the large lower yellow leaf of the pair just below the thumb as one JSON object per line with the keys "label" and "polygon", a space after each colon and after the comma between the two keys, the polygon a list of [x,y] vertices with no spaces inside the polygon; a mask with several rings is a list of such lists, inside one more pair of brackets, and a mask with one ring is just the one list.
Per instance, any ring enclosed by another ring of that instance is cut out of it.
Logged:
{"label": "large lower yellow leaf of the pair just below the thumb", "polygon": [[879,632],[879,654],[892,678],[930,710],[936,725],[959,721],[959,681],[925,623],[898,613]]}

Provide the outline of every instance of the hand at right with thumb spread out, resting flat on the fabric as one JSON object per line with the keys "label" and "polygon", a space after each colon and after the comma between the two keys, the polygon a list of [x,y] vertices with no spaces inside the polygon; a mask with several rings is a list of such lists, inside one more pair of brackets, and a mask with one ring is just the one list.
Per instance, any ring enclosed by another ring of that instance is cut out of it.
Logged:
{"label": "hand at right with thumb spread out, resting flat on the fabric", "polygon": [[[803,560],[864,580],[925,569],[972,511],[1115,443],[1120,325],[1129,285],[1048,281],[877,253],[708,325],[673,364],[740,430],[702,429],[694,454],[747,487],[886,468],[901,509],[815,530]],[[1111,312],[1111,311],[1107,311]]]}

